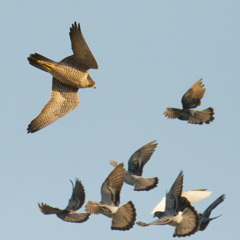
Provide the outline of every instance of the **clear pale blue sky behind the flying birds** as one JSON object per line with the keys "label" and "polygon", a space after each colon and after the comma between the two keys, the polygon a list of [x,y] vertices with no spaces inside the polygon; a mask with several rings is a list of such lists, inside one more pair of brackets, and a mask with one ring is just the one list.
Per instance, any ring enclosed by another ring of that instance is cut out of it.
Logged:
{"label": "clear pale blue sky behind the flying birds", "polygon": [[[191,239],[239,236],[240,3],[237,0],[181,1],[4,1],[1,28],[1,239],[122,240],[172,239],[171,226],[134,225],[111,231],[111,220],[92,215],[82,224],[43,215],[38,202],[65,208],[69,179],[82,181],[86,201],[100,201],[113,170],[146,143],[158,147],[144,177],[158,187],[135,192],[124,184],[121,204],[132,200],[137,221],[165,196],[180,170],[184,190],[207,188],[195,204],[204,211],[221,194],[222,216]],[[72,54],[69,28],[80,22],[99,69],[90,70],[96,89],[80,89],[80,105],[34,134],[27,126],[50,99],[52,76],[29,65],[40,53],[55,61]],[[197,109],[213,107],[209,125],[163,116],[181,108],[182,95],[200,78],[206,87]],[[85,206],[84,204],[84,206]],[[84,207],[79,212],[84,212]]]}

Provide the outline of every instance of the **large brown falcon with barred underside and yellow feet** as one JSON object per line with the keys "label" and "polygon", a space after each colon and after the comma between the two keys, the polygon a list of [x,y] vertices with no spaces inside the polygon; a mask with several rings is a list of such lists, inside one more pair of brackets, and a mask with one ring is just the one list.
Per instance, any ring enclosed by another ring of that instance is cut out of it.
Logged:
{"label": "large brown falcon with barred underside and yellow feet", "polygon": [[39,131],[76,108],[80,103],[79,88],[96,88],[88,70],[98,69],[98,64],[82,35],[80,24],[72,24],[69,35],[73,55],[60,62],[38,53],[28,57],[29,64],[53,76],[51,100],[28,125],[28,133]]}

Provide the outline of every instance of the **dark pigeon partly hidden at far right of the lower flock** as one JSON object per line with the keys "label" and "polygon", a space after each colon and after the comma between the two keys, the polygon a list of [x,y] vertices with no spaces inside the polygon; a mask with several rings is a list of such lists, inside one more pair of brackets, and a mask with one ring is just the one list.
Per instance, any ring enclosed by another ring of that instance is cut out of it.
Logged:
{"label": "dark pigeon partly hidden at far right of the lower flock", "polygon": [[199,231],[203,231],[207,228],[208,224],[210,221],[213,219],[216,219],[220,217],[221,215],[214,217],[214,218],[209,218],[211,215],[212,210],[217,207],[221,202],[223,202],[225,199],[225,194],[221,195],[217,200],[215,200],[204,212],[203,214],[198,213],[200,216],[200,227]]}

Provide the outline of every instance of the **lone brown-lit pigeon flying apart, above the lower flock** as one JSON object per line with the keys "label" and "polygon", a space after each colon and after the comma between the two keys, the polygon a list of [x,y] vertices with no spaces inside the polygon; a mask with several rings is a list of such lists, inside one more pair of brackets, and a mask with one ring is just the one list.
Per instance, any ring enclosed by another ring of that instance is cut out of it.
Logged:
{"label": "lone brown-lit pigeon flying apart, above the lower flock", "polygon": [[205,88],[202,84],[202,78],[198,80],[192,87],[183,95],[182,106],[183,109],[179,108],[167,108],[163,114],[168,118],[178,118],[180,120],[188,121],[192,124],[209,124],[214,120],[214,109],[209,107],[205,110],[190,110],[200,106],[201,99],[205,93]]}

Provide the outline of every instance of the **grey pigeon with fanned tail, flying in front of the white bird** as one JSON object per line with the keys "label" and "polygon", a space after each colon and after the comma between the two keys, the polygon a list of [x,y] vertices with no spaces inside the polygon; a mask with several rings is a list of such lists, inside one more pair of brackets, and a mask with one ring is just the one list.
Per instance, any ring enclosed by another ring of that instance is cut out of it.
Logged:
{"label": "grey pigeon with fanned tail, flying in front of the white bird", "polygon": [[183,172],[181,171],[166,194],[166,208],[164,212],[155,212],[159,219],[151,223],[137,222],[139,226],[171,225],[175,227],[173,237],[185,237],[196,233],[199,229],[200,217],[191,206],[187,198],[182,197]]}

